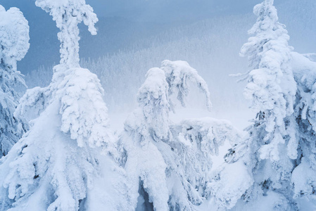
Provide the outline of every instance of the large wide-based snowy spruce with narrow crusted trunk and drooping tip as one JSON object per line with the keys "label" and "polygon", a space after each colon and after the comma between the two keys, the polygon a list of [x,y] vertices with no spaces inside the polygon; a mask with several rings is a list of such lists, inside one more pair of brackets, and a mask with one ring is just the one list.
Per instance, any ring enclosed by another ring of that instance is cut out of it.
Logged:
{"label": "large wide-based snowy spruce with narrow crusted trunk and drooping tip", "polygon": [[96,34],[96,15],[84,0],[36,5],[61,29],[61,64],[51,84],[28,90],[16,110],[33,120],[0,161],[0,210],[130,210],[103,89],[78,64],[77,25],[83,21]]}

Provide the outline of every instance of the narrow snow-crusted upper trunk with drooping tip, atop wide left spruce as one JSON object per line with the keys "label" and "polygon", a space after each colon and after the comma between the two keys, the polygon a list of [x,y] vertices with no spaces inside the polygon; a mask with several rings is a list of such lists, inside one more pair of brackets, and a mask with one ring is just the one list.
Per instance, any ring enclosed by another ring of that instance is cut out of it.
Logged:
{"label": "narrow snow-crusted upper trunk with drooping tip, atop wide left spruce", "polygon": [[56,21],[58,39],[61,41],[61,64],[68,68],[79,67],[79,23],[88,26],[91,34],[96,34],[95,23],[98,21],[93,8],[85,0],[37,0],[35,4],[49,13]]}

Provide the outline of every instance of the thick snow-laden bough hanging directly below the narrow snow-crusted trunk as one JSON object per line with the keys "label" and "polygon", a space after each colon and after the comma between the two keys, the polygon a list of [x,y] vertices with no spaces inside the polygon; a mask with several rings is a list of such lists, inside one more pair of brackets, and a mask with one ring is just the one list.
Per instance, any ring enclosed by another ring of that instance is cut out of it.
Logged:
{"label": "thick snow-laden bough hanging directly below the narrow snow-crusted trunk", "polygon": [[110,153],[115,153],[98,77],[87,69],[70,69],[58,84],[56,94],[61,96],[61,131],[70,132],[80,147],[106,146]]}

